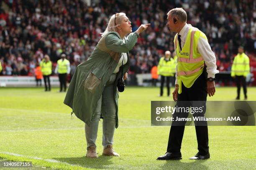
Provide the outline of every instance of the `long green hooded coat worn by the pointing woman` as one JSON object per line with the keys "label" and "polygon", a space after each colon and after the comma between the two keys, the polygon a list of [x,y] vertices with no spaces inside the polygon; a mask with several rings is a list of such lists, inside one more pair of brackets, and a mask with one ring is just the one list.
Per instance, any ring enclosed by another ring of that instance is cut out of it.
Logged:
{"label": "long green hooded coat worn by the pointing woman", "polygon": [[[90,125],[95,114],[97,101],[100,99],[106,83],[118,65],[122,52],[127,53],[128,61],[123,67],[127,72],[130,67],[129,50],[138,40],[138,33],[133,32],[121,39],[117,32],[109,32],[103,36],[87,61],[77,66],[70,82],[64,104],[72,108],[72,112],[87,125]],[[116,124],[118,128],[118,90],[117,82],[121,77],[121,69],[117,73],[114,86],[116,104]]]}

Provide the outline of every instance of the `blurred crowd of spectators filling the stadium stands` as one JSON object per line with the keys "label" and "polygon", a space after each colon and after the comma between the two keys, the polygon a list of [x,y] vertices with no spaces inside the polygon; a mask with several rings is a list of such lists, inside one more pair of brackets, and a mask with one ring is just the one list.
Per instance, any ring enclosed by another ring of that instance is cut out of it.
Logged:
{"label": "blurred crowd of spectators filling the stadium stands", "polygon": [[90,6],[82,0],[4,0],[0,9],[1,74],[33,75],[45,54],[55,67],[65,53],[72,75],[76,66],[90,56],[109,16],[121,11],[131,20],[133,31],[151,23],[130,52],[130,73],[148,73],[164,51],[174,51],[174,33],[166,27],[166,13],[174,7],[183,7],[187,23],[205,32],[218,70],[227,71],[239,45],[255,60],[253,6],[253,0],[101,0]]}

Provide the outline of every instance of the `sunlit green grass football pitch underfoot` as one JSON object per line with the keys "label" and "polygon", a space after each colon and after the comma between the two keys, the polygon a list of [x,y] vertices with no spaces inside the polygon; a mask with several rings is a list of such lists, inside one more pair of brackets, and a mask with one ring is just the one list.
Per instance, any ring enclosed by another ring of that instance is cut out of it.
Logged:
{"label": "sunlit green grass football pitch underfoot", "polygon": [[[188,159],[197,153],[197,140],[195,127],[187,126],[183,159],[156,160],[166,152],[170,127],[151,127],[151,100],[172,100],[158,94],[156,87],[126,87],[120,93],[120,123],[114,136],[114,149],[120,157],[102,156],[100,122],[99,158],[93,159],[85,157],[84,123],[75,116],[71,119],[71,109],[63,104],[65,93],[57,88],[51,92],[43,88],[0,88],[0,159],[32,161],[35,168],[61,170],[256,169],[255,126],[209,126],[211,158],[203,161]],[[235,97],[235,87],[217,87],[215,96],[207,100]],[[256,87],[248,87],[248,100],[256,100]]]}

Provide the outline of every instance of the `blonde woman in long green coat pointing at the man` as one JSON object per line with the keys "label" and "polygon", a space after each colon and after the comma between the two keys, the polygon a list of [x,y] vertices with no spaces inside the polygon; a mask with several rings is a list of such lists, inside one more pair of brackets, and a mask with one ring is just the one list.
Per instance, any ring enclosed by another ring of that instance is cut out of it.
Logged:
{"label": "blonde woman in long green coat pointing at the man", "polygon": [[64,103],[85,122],[87,157],[98,157],[96,138],[100,118],[103,118],[102,155],[120,156],[113,149],[114,131],[118,128],[117,84],[122,76],[124,80],[127,78],[129,51],[149,25],[141,25],[132,32],[125,13],[112,15],[91,56],[77,66]]}

